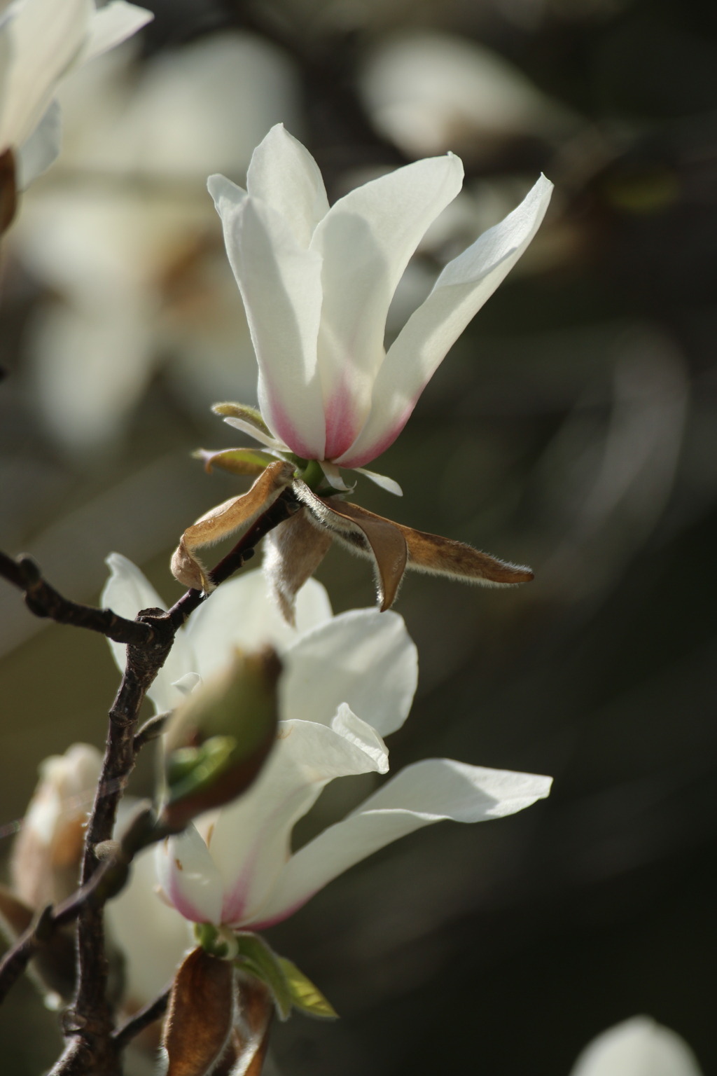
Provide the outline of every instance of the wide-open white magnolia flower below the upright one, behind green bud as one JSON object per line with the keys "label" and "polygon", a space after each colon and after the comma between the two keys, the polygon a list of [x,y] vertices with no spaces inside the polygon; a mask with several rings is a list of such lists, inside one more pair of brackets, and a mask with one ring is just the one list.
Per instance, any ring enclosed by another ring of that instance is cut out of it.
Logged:
{"label": "wide-open white magnolia flower below the upright one, behind green bud", "polygon": [[[104,604],[127,617],[161,605],[129,561],[113,554],[109,564]],[[417,681],[416,648],[396,613],[332,617],[326,591],[310,579],[298,594],[297,623],[282,620],[261,572],[240,576],[192,614],[150,689],[157,707],[173,705],[197,674],[217,671],[235,645],[271,641],[285,668],[277,742],[256,783],[157,849],[162,892],[191,921],[267,926],[404,834],[443,819],[501,818],[548,794],[547,777],[428,759],[291,854],[293,825],[329,781],[388,770],[384,737],[403,724]],[[124,664],[124,647],[112,646]],[[180,688],[172,686],[180,677]],[[110,906],[111,917],[125,908],[134,914],[138,886],[146,893],[138,878]],[[129,959],[131,975],[131,951]]]}

